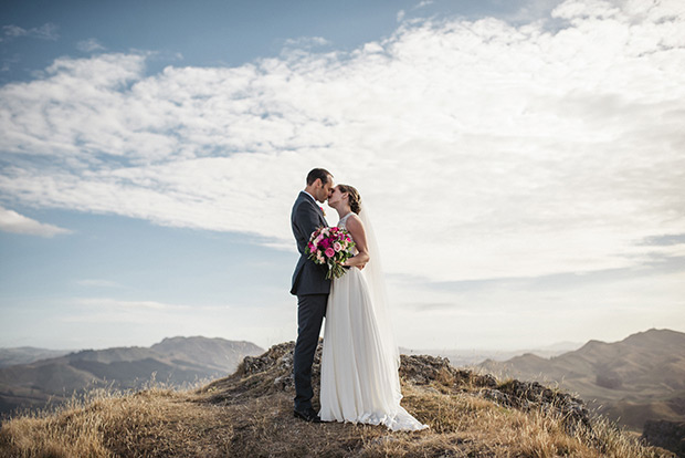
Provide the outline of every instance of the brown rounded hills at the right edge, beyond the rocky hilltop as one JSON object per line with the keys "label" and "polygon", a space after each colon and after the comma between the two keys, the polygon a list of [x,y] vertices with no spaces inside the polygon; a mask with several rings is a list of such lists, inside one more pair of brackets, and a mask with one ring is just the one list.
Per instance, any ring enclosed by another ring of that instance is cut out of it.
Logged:
{"label": "brown rounded hills at the right edge, beyond the rocky hilltop", "polygon": [[556,382],[635,431],[646,420],[685,420],[685,334],[676,331],[650,330],[615,343],[590,341],[549,360],[526,354],[504,363],[486,361],[481,367]]}

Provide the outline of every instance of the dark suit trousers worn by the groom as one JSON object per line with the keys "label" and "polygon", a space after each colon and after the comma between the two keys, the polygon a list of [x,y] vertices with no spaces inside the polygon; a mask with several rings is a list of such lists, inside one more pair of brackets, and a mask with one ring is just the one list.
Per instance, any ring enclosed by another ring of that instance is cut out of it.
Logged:
{"label": "dark suit trousers worn by the groom", "polygon": [[318,335],[326,315],[328,294],[307,294],[297,296],[297,342],[293,355],[293,377],[295,379],[295,409],[306,412],[312,408],[312,364],[318,345]]}

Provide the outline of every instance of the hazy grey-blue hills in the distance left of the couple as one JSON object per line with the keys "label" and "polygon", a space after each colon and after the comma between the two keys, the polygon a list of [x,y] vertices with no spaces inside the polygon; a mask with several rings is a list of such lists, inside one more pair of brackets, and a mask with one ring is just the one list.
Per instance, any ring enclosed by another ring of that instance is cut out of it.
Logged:
{"label": "hazy grey-blue hills in the distance left of the couple", "polygon": [[[15,348],[14,348],[15,350]],[[250,342],[172,337],[151,347],[84,350],[0,368],[0,414],[68,399],[98,386],[139,388],[155,381],[181,386],[225,376],[244,356],[263,350]]]}

